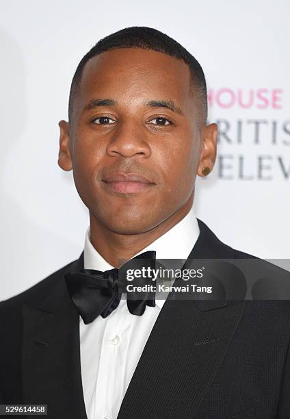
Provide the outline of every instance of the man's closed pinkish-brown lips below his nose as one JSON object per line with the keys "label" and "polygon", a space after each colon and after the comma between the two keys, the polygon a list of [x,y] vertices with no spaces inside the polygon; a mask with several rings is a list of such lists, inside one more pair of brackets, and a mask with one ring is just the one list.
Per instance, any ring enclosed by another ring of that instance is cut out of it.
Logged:
{"label": "man's closed pinkish-brown lips below his nose", "polygon": [[127,175],[112,173],[104,177],[103,182],[109,190],[126,194],[142,192],[155,185],[153,181],[137,173],[129,173]]}

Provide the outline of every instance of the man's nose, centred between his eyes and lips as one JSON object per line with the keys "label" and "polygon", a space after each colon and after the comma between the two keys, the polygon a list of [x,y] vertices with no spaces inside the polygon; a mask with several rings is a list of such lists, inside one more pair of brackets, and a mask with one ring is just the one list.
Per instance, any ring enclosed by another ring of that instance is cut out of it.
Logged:
{"label": "man's nose, centred between his eyes and lips", "polygon": [[107,154],[112,157],[118,155],[122,155],[122,157],[133,157],[133,155],[149,157],[151,150],[146,141],[142,124],[138,124],[136,121],[120,124],[112,133],[107,145]]}

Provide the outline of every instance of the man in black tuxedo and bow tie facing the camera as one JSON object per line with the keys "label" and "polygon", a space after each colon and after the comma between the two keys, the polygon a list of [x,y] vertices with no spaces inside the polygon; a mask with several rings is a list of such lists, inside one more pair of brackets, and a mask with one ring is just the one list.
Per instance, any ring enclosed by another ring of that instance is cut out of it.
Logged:
{"label": "man in black tuxedo and bow tie facing the camera", "polygon": [[202,68],[172,38],[131,27],[85,55],[58,162],[90,228],[79,259],[1,303],[1,403],[47,404],[49,418],[290,418],[288,301],[120,299],[117,269],[155,252],[250,258],[192,210],[217,134]]}

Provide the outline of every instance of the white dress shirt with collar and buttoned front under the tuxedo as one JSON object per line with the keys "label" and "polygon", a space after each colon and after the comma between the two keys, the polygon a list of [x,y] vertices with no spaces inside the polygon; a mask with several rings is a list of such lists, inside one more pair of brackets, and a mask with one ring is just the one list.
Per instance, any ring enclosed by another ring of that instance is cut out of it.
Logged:
{"label": "white dress shirt with collar and buttoned front under the tuxedo", "polygon": [[[157,259],[187,259],[200,230],[193,209],[145,251],[156,251]],[[139,253],[136,253],[139,254]],[[85,233],[84,268],[107,270],[114,266],[94,249],[90,227]],[[81,377],[88,419],[116,419],[124,394],[142,355],[165,300],[146,306],[142,316],[131,314],[122,299],[109,316],[98,316],[85,325],[79,318]]]}

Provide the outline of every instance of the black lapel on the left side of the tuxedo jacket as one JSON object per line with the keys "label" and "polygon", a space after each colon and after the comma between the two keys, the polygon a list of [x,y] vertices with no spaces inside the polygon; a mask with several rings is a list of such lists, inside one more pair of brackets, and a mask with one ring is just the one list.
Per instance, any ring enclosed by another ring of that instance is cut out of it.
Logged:
{"label": "black lapel on the left side of the tuxedo jacket", "polygon": [[[69,268],[83,268],[83,253]],[[38,307],[23,305],[23,403],[47,404],[51,418],[86,419],[79,314],[63,275]]]}

